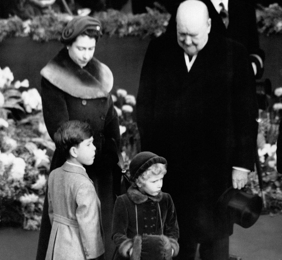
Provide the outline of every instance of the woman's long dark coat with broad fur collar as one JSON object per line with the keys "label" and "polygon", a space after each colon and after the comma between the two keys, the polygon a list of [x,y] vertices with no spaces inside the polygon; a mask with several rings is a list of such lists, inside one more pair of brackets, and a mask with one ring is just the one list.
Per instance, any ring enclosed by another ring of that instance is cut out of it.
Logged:
{"label": "woman's long dark coat with broad fur collar", "polygon": [[[62,122],[67,120],[80,120],[90,124],[93,130],[94,145],[97,150],[94,164],[85,166],[85,168],[88,176],[94,182],[95,189],[101,201],[105,234],[110,233],[111,227],[108,223],[111,222],[114,206],[112,167],[117,162],[117,157],[114,154],[114,150],[116,149],[112,147],[111,138],[116,140],[117,145],[120,142],[118,116],[114,109],[112,98],[108,93],[110,91],[109,85],[112,81],[112,74],[105,64],[101,64],[94,58],[81,69],[70,59],[66,48],[62,49],[50,63],[51,68],[54,68],[54,66],[66,68],[62,73],[67,71],[68,74],[65,75],[66,80],[62,81],[63,86],[55,86],[50,83],[50,81],[54,81],[52,73],[49,73],[49,80],[42,77],[41,97],[43,116],[48,133],[53,139],[57,128]],[[49,67],[46,66],[45,68]],[[91,75],[94,76],[94,79]],[[81,86],[70,84],[76,81]],[[93,88],[91,84],[94,86]],[[62,166],[65,160],[64,155],[56,149],[50,171]],[[109,231],[107,232],[108,229]],[[45,199],[37,259],[45,259],[50,231],[51,224],[48,217],[48,200]],[[107,237],[105,239],[107,240]]]}

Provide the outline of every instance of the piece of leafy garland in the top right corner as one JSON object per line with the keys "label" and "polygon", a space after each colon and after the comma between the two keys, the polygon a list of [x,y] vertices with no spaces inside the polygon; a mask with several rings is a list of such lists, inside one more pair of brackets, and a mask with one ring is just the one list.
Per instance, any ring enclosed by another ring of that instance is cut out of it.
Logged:
{"label": "piece of leafy garland in the top right corner", "polygon": [[282,33],[282,7],[277,3],[268,7],[257,5],[256,16],[259,32],[267,35]]}

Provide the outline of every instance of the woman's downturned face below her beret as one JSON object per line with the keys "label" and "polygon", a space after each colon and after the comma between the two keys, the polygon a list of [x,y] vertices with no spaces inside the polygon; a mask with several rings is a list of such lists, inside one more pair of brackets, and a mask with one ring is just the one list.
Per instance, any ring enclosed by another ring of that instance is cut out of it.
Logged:
{"label": "woman's downturned face below her beret", "polygon": [[68,55],[81,68],[92,59],[95,51],[96,40],[87,35],[77,36],[75,42],[67,46]]}

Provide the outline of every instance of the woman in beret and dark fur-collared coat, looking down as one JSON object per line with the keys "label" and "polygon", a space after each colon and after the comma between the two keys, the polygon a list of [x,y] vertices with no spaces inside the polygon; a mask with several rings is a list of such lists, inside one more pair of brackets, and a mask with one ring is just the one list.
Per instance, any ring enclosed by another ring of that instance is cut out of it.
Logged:
{"label": "woman in beret and dark fur-collared coat, looking down", "polygon": [[[66,45],[41,70],[41,96],[44,121],[49,135],[67,120],[88,122],[93,130],[96,157],[86,172],[94,182],[101,201],[105,240],[110,240],[113,210],[112,168],[118,158],[113,147],[119,145],[118,116],[109,94],[113,86],[110,69],[93,57],[101,24],[89,16],[73,18],[64,29],[61,41]],[[65,158],[55,150],[50,171],[62,166]],[[47,194],[47,191],[46,191]],[[45,198],[36,259],[45,259],[51,224]],[[111,243],[105,243],[111,253]]]}

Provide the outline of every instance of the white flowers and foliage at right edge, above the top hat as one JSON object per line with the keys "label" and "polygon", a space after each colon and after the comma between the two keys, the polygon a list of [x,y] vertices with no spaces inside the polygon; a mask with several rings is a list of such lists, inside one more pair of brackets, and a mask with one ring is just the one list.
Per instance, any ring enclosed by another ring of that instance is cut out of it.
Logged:
{"label": "white flowers and foliage at right edge, above the top hat", "polygon": [[[276,148],[279,123],[282,115],[282,87],[267,95],[267,107],[259,110],[257,147],[262,172],[262,187],[259,187],[257,171],[249,174],[248,188],[264,199],[264,207],[270,213],[282,213],[282,174],[276,168]],[[258,169],[257,169],[258,170]],[[261,194],[262,189],[262,194]]]}

